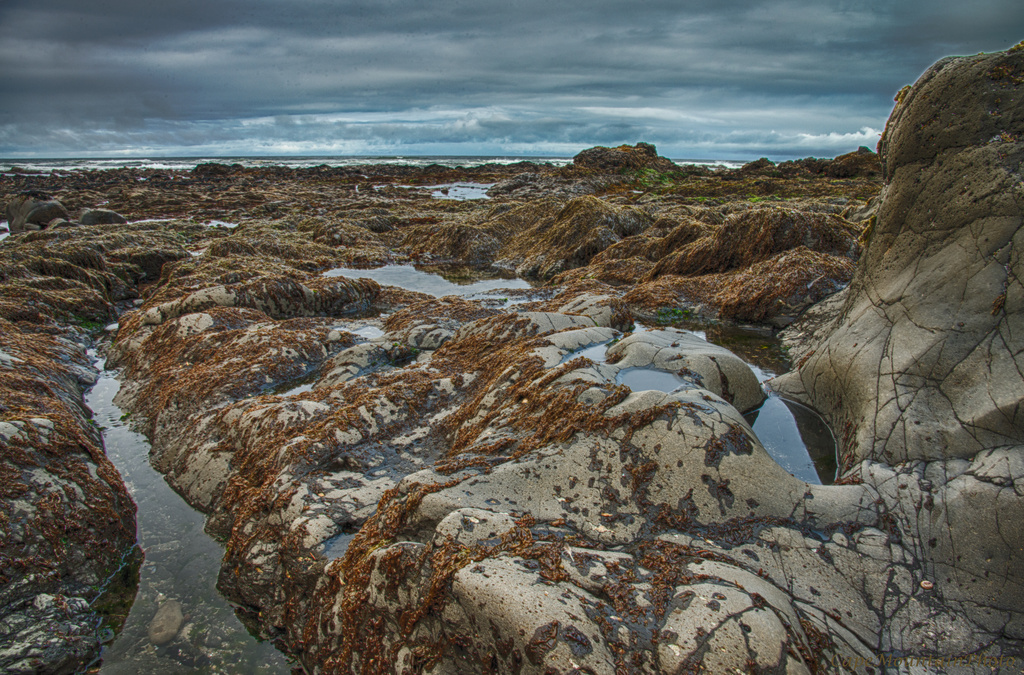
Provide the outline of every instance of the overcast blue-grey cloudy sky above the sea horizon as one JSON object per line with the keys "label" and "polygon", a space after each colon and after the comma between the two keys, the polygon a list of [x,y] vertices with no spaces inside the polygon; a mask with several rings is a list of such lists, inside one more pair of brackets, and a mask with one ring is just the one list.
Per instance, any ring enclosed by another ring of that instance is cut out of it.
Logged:
{"label": "overcast blue-grey cloudy sky above the sea horizon", "polygon": [[835,157],[1021,40],[1021,0],[0,0],[0,157]]}

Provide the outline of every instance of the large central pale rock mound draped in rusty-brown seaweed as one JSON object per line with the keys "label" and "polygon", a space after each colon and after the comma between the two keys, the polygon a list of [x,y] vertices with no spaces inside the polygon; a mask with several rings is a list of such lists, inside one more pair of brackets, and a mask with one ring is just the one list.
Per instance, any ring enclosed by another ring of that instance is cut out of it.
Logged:
{"label": "large central pale rock mound draped in rusty-brown seaweed", "polygon": [[[696,576],[714,587],[696,588],[711,594],[702,601],[735,607],[708,609],[705,628],[721,623],[715,645],[728,647],[716,663],[802,672],[820,661],[813,636],[827,620],[781,590],[800,558],[780,553],[755,596],[730,589],[754,588],[759,567],[727,551],[803,542],[805,520],[873,524],[870,497],[809,492],[767,455],[736,408],[763,392],[727,350],[663,331],[596,363],[573,354],[628,328],[616,298],[566,289],[521,312],[443,298],[399,310],[384,336],[334,357],[306,350],[299,358],[321,375],[286,396],[245,383],[287,378],[271,366],[274,345],[298,351],[300,327],[238,308],[206,313],[133,325],[119,346],[121,403],[156,422],[157,465],[229,537],[223,587],[260,607],[259,629],[285,631],[310,666],[415,669],[422,655],[451,672],[690,663],[707,639],[673,608]],[[419,355],[395,358],[409,344]],[[200,354],[208,365],[186,374]],[[240,357],[245,372],[218,368]],[[339,377],[342,367],[353,370]],[[645,368],[680,374],[683,386],[616,384]],[[683,535],[694,529],[699,548]],[[712,542],[725,564],[691,566]],[[833,566],[823,574],[833,581],[822,586],[839,583]],[[757,597],[769,595],[766,614]],[[737,641],[739,624],[761,646]],[[655,631],[676,636],[664,655],[645,637]],[[856,653],[869,636],[842,635],[830,653]]]}

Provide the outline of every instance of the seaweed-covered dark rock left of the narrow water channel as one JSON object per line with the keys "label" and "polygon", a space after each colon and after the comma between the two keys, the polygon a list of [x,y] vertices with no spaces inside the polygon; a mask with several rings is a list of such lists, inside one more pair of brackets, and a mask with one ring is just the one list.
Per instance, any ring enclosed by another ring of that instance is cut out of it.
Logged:
{"label": "seaweed-covered dark rock left of the narrow water channel", "polygon": [[82,405],[85,349],[4,320],[0,335],[0,670],[74,672],[99,651],[135,505]]}

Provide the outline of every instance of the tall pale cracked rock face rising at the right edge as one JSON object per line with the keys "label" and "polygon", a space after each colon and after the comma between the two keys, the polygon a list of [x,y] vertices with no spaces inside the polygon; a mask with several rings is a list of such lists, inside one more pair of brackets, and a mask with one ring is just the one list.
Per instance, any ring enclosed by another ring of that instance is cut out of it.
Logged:
{"label": "tall pale cracked rock face rising at the right edge", "polygon": [[948,58],[901,92],[853,282],[777,384],[842,430],[977,645],[1024,638],[1022,75],[1021,50]]}

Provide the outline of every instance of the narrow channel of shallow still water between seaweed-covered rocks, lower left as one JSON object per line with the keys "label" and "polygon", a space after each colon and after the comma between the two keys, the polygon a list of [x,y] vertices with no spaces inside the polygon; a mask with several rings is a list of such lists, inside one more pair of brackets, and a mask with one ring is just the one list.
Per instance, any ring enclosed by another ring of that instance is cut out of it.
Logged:
{"label": "narrow channel of shallow still water between seaweed-covered rocks, lower left", "polygon": [[[85,395],[103,434],[106,456],[138,507],[137,538],[145,559],[124,628],[102,650],[99,673],[255,673],[285,675],[293,665],[269,642],[249,634],[234,607],[217,591],[223,544],[204,531],[205,517],[177,495],[150,464],[150,444],[132,431],[114,405],[120,383],[103,369]],[[155,644],[150,623],[168,603],[180,605],[174,638]],[[95,671],[90,671],[95,672]]]}

